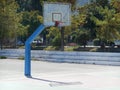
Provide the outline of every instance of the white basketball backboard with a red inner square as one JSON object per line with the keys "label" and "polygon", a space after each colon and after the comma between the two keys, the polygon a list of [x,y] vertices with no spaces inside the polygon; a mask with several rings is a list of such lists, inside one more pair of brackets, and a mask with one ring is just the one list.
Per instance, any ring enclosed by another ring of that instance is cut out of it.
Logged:
{"label": "white basketball backboard with a red inner square", "polygon": [[61,26],[69,26],[71,24],[71,4],[44,2],[43,16],[45,26],[54,26],[56,21],[61,22]]}

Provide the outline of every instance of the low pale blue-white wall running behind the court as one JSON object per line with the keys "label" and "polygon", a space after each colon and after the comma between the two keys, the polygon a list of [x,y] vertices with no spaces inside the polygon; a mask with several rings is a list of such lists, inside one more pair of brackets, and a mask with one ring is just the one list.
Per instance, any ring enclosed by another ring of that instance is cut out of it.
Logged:
{"label": "low pale blue-white wall running behind the court", "polygon": [[[0,50],[0,56],[8,58],[20,58],[24,57],[24,55],[24,49]],[[31,57],[32,59],[61,63],[120,65],[120,53],[31,50]]]}

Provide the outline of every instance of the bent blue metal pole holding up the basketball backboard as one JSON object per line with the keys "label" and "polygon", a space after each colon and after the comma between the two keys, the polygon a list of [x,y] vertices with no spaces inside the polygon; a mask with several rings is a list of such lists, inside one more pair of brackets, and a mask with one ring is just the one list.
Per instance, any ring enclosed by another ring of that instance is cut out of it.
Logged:
{"label": "bent blue metal pole holding up the basketball backboard", "polygon": [[44,30],[45,26],[40,25],[36,31],[25,42],[25,76],[31,76],[31,43]]}

